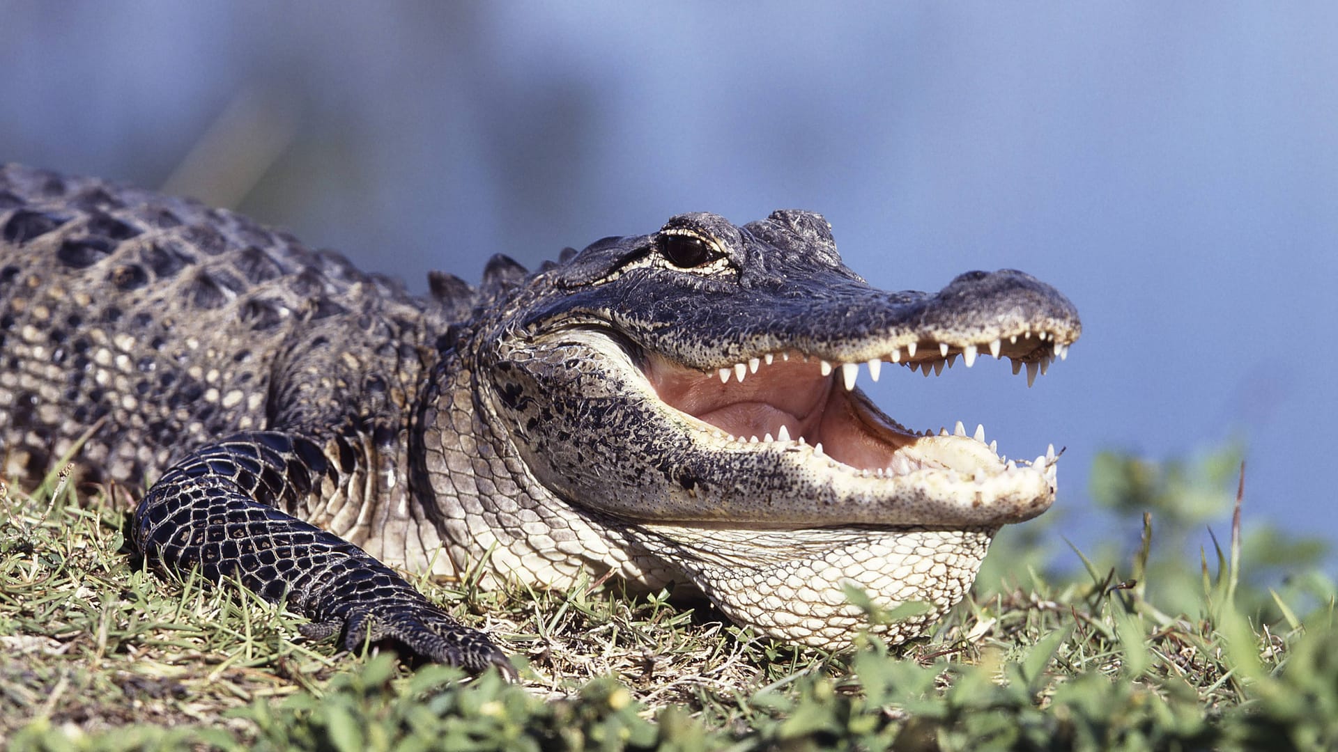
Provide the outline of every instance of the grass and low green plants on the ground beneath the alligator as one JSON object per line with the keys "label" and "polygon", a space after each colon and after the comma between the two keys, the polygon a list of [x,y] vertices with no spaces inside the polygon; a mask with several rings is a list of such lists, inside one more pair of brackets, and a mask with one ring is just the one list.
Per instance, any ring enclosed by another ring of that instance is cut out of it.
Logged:
{"label": "grass and low green plants on the ground beneath the alligator", "polygon": [[[48,482],[0,500],[0,747],[1338,748],[1323,547],[1228,525],[1223,547],[1185,553],[1231,502],[1223,454],[1104,458],[1093,483],[1116,488],[1105,506],[1129,530],[1124,550],[1084,555],[1044,525],[1006,531],[975,597],[896,649],[789,648],[613,583],[424,582],[506,641],[522,685],[310,644],[302,620],[237,587],[146,571],[123,494],[76,499]],[[1185,483],[1218,500],[1177,504]],[[1139,510],[1153,515],[1141,535]]]}

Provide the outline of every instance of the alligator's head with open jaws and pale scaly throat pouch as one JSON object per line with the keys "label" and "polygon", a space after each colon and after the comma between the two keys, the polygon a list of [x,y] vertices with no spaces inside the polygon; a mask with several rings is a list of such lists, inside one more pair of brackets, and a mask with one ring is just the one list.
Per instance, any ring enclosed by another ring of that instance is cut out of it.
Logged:
{"label": "alligator's head with open jaws and pale scaly throat pouch", "polygon": [[868,626],[854,585],[927,603],[876,626],[915,636],[970,587],[999,526],[1054,499],[1053,451],[1005,462],[979,432],[917,434],[856,388],[862,371],[986,353],[1034,379],[1081,325],[1021,272],[883,292],[819,214],[685,214],[541,270],[506,310],[476,377],[526,471],[666,562],[645,579],[690,581],[768,634],[847,645]]}

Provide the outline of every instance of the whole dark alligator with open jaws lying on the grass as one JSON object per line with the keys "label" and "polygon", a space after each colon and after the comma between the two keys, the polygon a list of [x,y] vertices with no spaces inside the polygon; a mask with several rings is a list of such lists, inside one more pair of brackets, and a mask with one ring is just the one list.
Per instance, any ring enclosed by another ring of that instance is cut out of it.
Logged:
{"label": "whole dark alligator with open jaws lying on the grass", "polygon": [[[856,381],[989,353],[1030,383],[1074,306],[1016,270],[878,290],[811,211],[681,214],[424,296],[231,211],[20,166],[0,236],[0,470],[74,458],[140,490],[149,565],[238,581],[351,650],[514,676],[404,573],[621,575],[784,641],[899,642],[1056,494],[1053,448],[909,430]],[[848,587],[921,606],[875,624]]]}

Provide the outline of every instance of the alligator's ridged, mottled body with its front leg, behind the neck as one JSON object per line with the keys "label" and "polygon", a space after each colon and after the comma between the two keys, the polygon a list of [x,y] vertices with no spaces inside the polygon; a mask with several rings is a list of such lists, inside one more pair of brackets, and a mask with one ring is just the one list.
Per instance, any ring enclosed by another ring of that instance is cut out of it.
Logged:
{"label": "alligator's ridged, mottled body with its front leg, behind the neck", "polygon": [[158,480],[134,529],[155,565],[286,595],[309,634],[347,626],[349,648],[371,626],[438,661],[510,666],[384,563],[293,516],[365,542],[409,508],[411,416],[459,304],[98,181],[7,167],[0,217],[11,474],[45,472],[95,428],[86,480]]}

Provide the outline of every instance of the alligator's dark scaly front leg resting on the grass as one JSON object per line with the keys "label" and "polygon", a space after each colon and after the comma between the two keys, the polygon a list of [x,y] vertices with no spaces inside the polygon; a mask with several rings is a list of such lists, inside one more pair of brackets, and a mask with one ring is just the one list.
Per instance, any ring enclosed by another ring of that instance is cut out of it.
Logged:
{"label": "alligator's dark scaly front leg resting on the grass", "polygon": [[308,637],[344,634],[356,650],[393,640],[413,653],[514,677],[506,656],[476,629],[435,606],[357,546],[280,511],[333,474],[318,446],[278,432],[233,436],[177,463],[135,510],[134,538],[150,563],[199,567],[211,582],[237,577],[266,601],[312,620]]}

